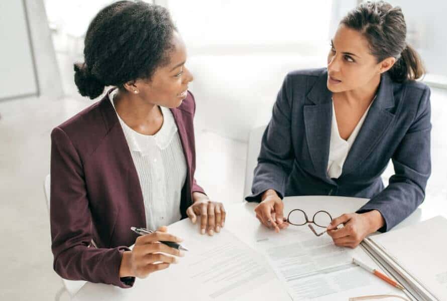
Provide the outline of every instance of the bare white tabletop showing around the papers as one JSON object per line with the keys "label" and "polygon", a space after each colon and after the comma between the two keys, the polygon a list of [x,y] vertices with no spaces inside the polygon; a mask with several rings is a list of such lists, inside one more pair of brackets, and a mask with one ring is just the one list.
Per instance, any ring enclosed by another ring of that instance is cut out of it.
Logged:
{"label": "bare white tabletop showing around the papers", "polygon": [[[287,197],[284,199],[284,214],[287,214],[292,209],[299,208],[304,210],[310,216],[318,210],[326,210],[331,213],[332,217],[337,217],[343,213],[356,211],[367,201],[367,199],[329,196]],[[255,245],[257,237],[262,235],[263,232],[271,231],[260,225],[259,221],[256,219],[253,211],[255,206],[256,204],[254,203],[241,203],[226,208],[228,217],[225,228],[232,231],[236,236],[245,241],[252,248],[256,248]],[[415,224],[436,215],[443,215],[447,217],[447,212],[439,212],[438,208],[433,206],[433,204],[423,204],[411,216],[397,225],[394,229]],[[198,234],[198,229],[196,232],[191,231],[191,235],[200,235]],[[217,233],[215,235],[219,234]],[[187,237],[183,238],[187,241]],[[209,242],[212,243],[212,237],[210,237]],[[167,269],[166,272],[169,273],[169,269]],[[166,276],[166,273],[164,276]],[[153,273],[146,279],[137,278],[134,287],[130,289],[122,289],[113,285],[87,282],[73,297],[73,300],[154,300],[154,298],[151,298],[151,294],[154,289],[158,291],[158,297],[155,299],[158,300],[160,296],[164,296],[163,299],[166,300],[170,299],[169,291],[175,288],[175,284],[165,283],[168,281],[157,281],[157,277],[157,273]],[[154,283],[157,283],[155,288]],[[285,292],[279,280],[277,278],[273,278],[267,283],[267,285],[261,285],[259,288],[244,295],[244,297],[240,299],[279,301],[290,300],[290,297]],[[183,300],[195,301],[196,297],[185,295],[182,301]]]}

